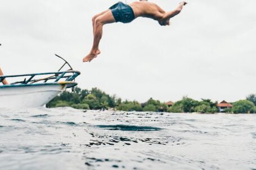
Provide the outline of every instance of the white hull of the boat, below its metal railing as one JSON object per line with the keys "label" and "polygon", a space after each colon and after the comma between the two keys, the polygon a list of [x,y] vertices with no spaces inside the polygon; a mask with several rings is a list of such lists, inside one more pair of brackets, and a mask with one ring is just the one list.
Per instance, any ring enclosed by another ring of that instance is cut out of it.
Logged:
{"label": "white hull of the boat, below its metal railing", "polygon": [[0,108],[42,107],[66,89],[67,84],[0,86]]}

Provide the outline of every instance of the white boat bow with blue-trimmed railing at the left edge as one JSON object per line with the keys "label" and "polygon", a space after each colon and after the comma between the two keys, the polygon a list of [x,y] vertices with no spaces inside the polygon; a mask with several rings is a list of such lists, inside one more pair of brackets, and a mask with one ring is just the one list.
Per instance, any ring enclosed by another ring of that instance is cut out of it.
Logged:
{"label": "white boat bow with blue-trimmed railing at the left edge", "polygon": [[[73,88],[77,82],[73,80],[80,75],[79,71],[62,71],[34,73],[28,75],[0,76],[2,79],[22,78],[10,85],[0,86],[0,108],[33,108],[41,107],[66,88]],[[36,77],[47,76],[41,79]]]}

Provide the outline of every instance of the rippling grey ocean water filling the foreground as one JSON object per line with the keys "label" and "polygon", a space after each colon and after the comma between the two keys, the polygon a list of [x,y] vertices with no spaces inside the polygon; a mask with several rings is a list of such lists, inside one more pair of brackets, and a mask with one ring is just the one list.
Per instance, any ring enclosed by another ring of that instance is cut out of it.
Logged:
{"label": "rippling grey ocean water filling the foreground", "polygon": [[0,169],[256,169],[256,115],[0,110]]}

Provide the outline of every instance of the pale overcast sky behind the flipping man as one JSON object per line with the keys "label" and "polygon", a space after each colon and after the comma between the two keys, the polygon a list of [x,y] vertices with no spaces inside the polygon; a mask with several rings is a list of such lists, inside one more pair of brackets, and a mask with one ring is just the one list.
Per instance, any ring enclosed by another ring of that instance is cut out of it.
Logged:
{"label": "pale overcast sky behind the flipping man", "polygon": [[[93,15],[113,0],[0,0],[0,66],[6,75],[57,71],[68,60],[79,87],[122,99],[235,102],[256,93],[256,1],[189,0],[170,26],[138,18],[104,26],[92,46]],[[133,1],[127,0],[127,3]],[[179,1],[155,0],[166,11]]]}

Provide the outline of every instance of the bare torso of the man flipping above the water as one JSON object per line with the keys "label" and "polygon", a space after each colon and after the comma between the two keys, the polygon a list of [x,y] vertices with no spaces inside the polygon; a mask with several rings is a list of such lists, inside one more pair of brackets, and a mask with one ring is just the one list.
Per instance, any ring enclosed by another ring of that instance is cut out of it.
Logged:
{"label": "bare torso of the man flipping above the water", "polygon": [[147,1],[133,2],[132,7],[135,17],[148,17],[153,20],[160,20],[165,11],[157,4]]}

